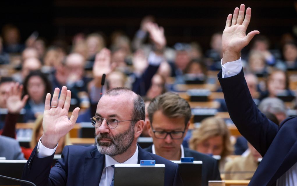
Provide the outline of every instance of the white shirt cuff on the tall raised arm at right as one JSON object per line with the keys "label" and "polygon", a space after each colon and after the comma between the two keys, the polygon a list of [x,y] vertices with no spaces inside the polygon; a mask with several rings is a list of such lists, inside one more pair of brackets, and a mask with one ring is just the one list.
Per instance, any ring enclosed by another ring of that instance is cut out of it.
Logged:
{"label": "white shirt cuff on the tall raised arm at right", "polygon": [[222,78],[231,77],[239,74],[242,68],[241,58],[239,58],[236,61],[227,62],[224,65],[222,64],[222,60],[221,60]]}

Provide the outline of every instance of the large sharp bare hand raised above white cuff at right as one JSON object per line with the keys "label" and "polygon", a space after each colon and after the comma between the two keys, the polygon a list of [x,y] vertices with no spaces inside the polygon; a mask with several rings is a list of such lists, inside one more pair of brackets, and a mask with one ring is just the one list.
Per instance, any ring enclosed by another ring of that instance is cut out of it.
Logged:
{"label": "large sharp bare hand raised above white cuff at right", "polygon": [[229,14],[227,17],[226,27],[222,35],[223,64],[238,60],[241,49],[247,46],[256,34],[260,33],[254,30],[246,35],[252,10],[247,8],[245,17],[244,10],[245,6],[241,4],[240,8],[235,8],[233,18],[232,14]]}

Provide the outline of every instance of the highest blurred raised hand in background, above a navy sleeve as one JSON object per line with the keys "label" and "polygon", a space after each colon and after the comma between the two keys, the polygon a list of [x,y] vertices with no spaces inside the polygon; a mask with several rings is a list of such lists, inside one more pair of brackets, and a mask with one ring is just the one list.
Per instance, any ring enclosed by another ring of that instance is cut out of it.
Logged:
{"label": "highest blurred raised hand in background, above a navy sleeve", "polygon": [[151,40],[153,40],[157,50],[163,50],[166,46],[166,38],[164,35],[163,27],[159,27],[156,23],[149,22],[146,25],[147,31],[150,34]]}

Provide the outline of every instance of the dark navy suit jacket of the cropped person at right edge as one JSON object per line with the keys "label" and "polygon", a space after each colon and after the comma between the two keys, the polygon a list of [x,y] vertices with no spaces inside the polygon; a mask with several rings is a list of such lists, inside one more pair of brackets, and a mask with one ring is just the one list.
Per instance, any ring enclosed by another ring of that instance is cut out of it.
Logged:
{"label": "dark navy suit jacket of the cropped person at right edge", "polygon": [[232,121],[263,157],[249,185],[275,185],[297,162],[297,117],[285,119],[279,127],[268,120],[257,109],[242,70],[228,78],[220,71],[218,78]]}

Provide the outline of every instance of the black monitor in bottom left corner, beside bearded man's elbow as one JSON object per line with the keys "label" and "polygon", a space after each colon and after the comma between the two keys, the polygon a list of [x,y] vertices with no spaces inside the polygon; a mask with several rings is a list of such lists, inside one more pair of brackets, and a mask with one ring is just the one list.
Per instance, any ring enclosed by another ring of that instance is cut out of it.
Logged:
{"label": "black monitor in bottom left corner, beside bearded man's elbow", "polygon": [[[21,179],[27,160],[0,160],[0,175]],[[20,182],[0,178],[0,185],[20,185]]]}

